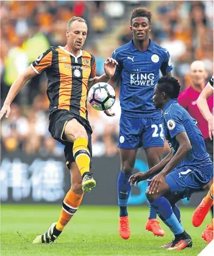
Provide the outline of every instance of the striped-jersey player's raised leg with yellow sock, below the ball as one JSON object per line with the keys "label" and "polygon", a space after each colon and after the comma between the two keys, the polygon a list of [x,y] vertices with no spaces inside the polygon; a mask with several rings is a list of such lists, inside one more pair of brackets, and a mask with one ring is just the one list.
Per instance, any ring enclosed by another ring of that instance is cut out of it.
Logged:
{"label": "striped-jersey player's raised leg with yellow sock, below the ball", "polygon": [[82,175],[82,190],[90,192],[96,186],[96,181],[90,173],[91,155],[88,150],[88,135],[85,128],[75,119],[65,125],[65,139],[73,141],[73,156]]}

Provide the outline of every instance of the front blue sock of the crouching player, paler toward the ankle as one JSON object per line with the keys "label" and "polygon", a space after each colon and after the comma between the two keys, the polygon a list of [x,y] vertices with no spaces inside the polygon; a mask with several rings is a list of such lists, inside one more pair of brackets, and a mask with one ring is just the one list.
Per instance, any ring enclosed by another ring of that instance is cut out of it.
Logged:
{"label": "front blue sock of the crouching player, paler toward the ankle", "polygon": [[156,209],[157,214],[163,222],[171,229],[174,235],[179,235],[184,232],[184,228],[180,225],[176,215],[171,209],[169,201],[165,197],[159,197],[152,201],[151,205]]}

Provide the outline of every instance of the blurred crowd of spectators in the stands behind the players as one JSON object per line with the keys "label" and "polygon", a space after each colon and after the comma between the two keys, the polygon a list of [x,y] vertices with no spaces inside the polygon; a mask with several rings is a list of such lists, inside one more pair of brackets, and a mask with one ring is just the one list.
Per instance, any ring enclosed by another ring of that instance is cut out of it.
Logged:
{"label": "blurred crowd of spectators in the stands behind the players", "polygon": [[[84,48],[95,56],[96,74],[102,75],[105,59],[116,47],[132,39],[130,15],[135,7],[142,6],[147,6],[152,12],[152,40],[169,50],[173,75],[184,88],[190,85],[188,89],[194,91],[197,99],[206,78],[202,75],[201,81],[198,74],[193,75],[190,64],[200,59],[209,77],[213,73],[213,1],[1,1],[2,104],[19,73],[49,45],[66,44],[66,22],[74,15],[87,20],[88,37]],[[195,80],[201,81],[200,86]],[[18,105],[12,104],[12,113],[2,121],[2,149],[21,149],[29,154],[48,156],[63,152],[63,146],[53,141],[48,132],[46,89],[46,75],[42,73],[21,90],[15,99]],[[189,100],[188,106],[196,107],[191,105],[196,99]],[[186,98],[184,104],[187,102]],[[88,107],[88,118],[93,127],[94,156],[118,154],[118,99],[114,110],[116,116],[109,118]],[[198,115],[194,109],[193,112],[188,111],[190,115]]]}

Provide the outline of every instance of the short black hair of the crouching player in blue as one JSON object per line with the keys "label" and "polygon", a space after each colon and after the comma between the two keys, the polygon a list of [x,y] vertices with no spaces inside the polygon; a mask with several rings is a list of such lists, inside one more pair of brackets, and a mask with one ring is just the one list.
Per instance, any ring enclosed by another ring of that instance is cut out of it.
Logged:
{"label": "short black hair of the crouching player in blue", "polygon": [[177,98],[180,93],[180,83],[175,77],[162,77],[157,81],[156,88],[160,92],[165,92],[171,99]]}

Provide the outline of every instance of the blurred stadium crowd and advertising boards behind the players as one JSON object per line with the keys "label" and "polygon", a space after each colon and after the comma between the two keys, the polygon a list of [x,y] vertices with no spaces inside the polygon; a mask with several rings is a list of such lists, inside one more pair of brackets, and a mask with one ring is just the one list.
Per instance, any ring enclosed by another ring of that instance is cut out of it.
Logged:
{"label": "blurred stadium crowd and advertising boards behind the players", "polygon": [[[66,44],[66,22],[72,16],[88,21],[84,49],[95,55],[96,74],[104,73],[105,59],[132,38],[130,13],[135,7],[148,7],[152,11],[151,38],[169,50],[173,75],[179,79],[182,89],[191,83],[190,64],[196,59],[205,62],[211,77],[213,1],[1,1],[1,106],[15,78],[32,61],[49,45]],[[29,81],[11,105],[9,118],[1,122],[2,203],[57,203],[60,210],[70,187],[63,146],[48,132],[46,85],[45,73]],[[118,98],[118,89],[116,94]],[[88,106],[93,127],[93,173],[98,186],[85,196],[84,205],[116,205],[118,99],[113,109],[116,116],[108,118]],[[145,159],[141,149],[136,171],[146,170]],[[146,182],[134,188],[130,204],[146,205],[145,190]],[[196,206],[204,195],[205,192],[196,194],[182,204],[186,209]],[[2,209],[8,210],[6,206]],[[141,222],[144,224],[146,219]]]}

